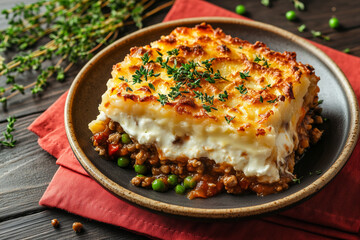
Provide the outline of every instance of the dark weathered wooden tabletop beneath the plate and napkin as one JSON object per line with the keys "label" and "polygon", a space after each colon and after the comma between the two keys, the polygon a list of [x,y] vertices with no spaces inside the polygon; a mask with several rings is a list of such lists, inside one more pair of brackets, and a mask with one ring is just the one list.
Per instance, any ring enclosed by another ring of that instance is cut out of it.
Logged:
{"label": "dark weathered wooden tabletop beneath the plate and napkin", "polygon": [[[31,3],[35,0],[1,0],[0,10],[8,9],[16,3]],[[157,4],[166,2],[159,1]],[[293,10],[289,0],[273,0],[272,7],[261,5],[260,0],[221,0],[212,2],[218,6],[234,11],[236,4],[243,4],[247,9],[247,17],[286,29],[299,36],[319,42],[340,51],[350,48],[354,56],[360,57],[360,1],[359,0],[312,0],[303,2],[307,10],[298,12],[299,21],[289,22],[284,14]],[[144,21],[145,26],[159,23],[170,8]],[[333,30],[328,20],[336,16],[341,28]],[[314,39],[309,31],[300,33],[297,27],[306,24],[308,29],[321,31],[330,36],[330,41]],[[6,27],[3,16],[0,17],[0,29]],[[126,30],[124,34],[131,30]],[[0,110],[0,132],[6,129],[6,118],[16,116],[17,144],[15,148],[0,146],[0,239],[51,239],[51,238],[83,238],[83,239],[143,239],[116,226],[84,219],[62,210],[39,206],[38,202],[58,166],[56,159],[45,152],[37,143],[37,136],[26,128],[41,115],[70,86],[81,65],[74,67],[64,83],[51,81],[47,90],[40,97],[31,94],[17,96],[8,104],[8,111]],[[34,76],[29,76],[34,78]],[[0,78],[0,86],[4,79]],[[0,136],[2,140],[2,136]],[[61,227],[54,229],[50,220],[57,218]],[[80,221],[84,231],[76,234],[72,223]]]}

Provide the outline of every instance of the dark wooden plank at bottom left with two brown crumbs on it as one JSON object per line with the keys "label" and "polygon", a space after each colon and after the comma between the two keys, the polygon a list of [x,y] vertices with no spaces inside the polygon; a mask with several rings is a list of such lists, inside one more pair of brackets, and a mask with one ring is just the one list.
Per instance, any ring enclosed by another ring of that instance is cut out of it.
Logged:
{"label": "dark wooden plank at bottom left with two brown crumbs on it", "polygon": [[[51,225],[58,219],[59,228]],[[72,230],[74,222],[83,224],[83,231]],[[11,219],[0,224],[0,239],[147,239],[119,227],[89,220],[57,209]]]}

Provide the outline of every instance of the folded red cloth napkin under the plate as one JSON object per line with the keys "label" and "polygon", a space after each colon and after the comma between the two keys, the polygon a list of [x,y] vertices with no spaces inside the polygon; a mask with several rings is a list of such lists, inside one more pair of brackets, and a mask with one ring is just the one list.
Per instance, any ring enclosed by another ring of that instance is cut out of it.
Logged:
{"label": "folded red cloth napkin under the plate", "polygon": [[[241,18],[200,0],[177,0],[165,21],[199,16]],[[318,45],[344,71],[360,99],[360,58]],[[326,81],[326,80],[323,80]],[[73,155],[64,128],[66,93],[29,126],[60,165],[41,205],[163,239],[360,239],[360,144],[325,190],[291,209],[266,217],[204,221],[158,214],[125,202],[92,180]],[[241,197],[240,197],[241,198]]]}

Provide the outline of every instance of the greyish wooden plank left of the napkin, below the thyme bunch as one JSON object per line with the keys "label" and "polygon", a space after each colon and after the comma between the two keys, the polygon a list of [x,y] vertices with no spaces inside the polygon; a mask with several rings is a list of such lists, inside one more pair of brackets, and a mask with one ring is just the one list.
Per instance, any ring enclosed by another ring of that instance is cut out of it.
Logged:
{"label": "greyish wooden plank left of the napkin, below the thyme bunch", "polygon": [[[18,119],[15,148],[0,147],[0,221],[39,211],[40,197],[58,168],[56,159],[42,150],[37,136],[26,129],[37,116]],[[0,124],[1,132],[5,128],[6,123]]]}

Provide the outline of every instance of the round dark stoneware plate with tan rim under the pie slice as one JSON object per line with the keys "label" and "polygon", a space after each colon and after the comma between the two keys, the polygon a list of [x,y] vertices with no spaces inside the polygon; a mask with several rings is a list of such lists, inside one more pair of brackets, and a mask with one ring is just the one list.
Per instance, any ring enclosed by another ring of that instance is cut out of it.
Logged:
{"label": "round dark stoneware plate with tan rim under the pie slice", "polygon": [[[294,51],[298,60],[314,66],[321,77],[320,99],[323,116],[329,119],[321,141],[296,165],[300,184],[288,190],[258,197],[254,194],[220,194],[209,199],[189,200],[174,191],[158,193],[130,184],[135,172],[106,161],[93,150],[88,123],[98,114],[101,95],[106,90],[112,66],[123,60],[133,46],[143,46],[169,34],[178,26],[193,27],[207,22],[226,34],[254,43],[262,41],[276,51]],[[338,66],[321,50],[282,29],[267,24],[230,18],[193,18],[157,24],[130,34],[97,54],[76,77],[66,101],[65,126],[70,145],[84,169],[101,186],[135,204],[171,214],[227,218],[274,211],[305,199],[323,188],[341,170],[358,138],[359,111],[354,92]],[[309,172],[320,170],[320,175]],[[326,188],[324,189],[326,191]]]}

